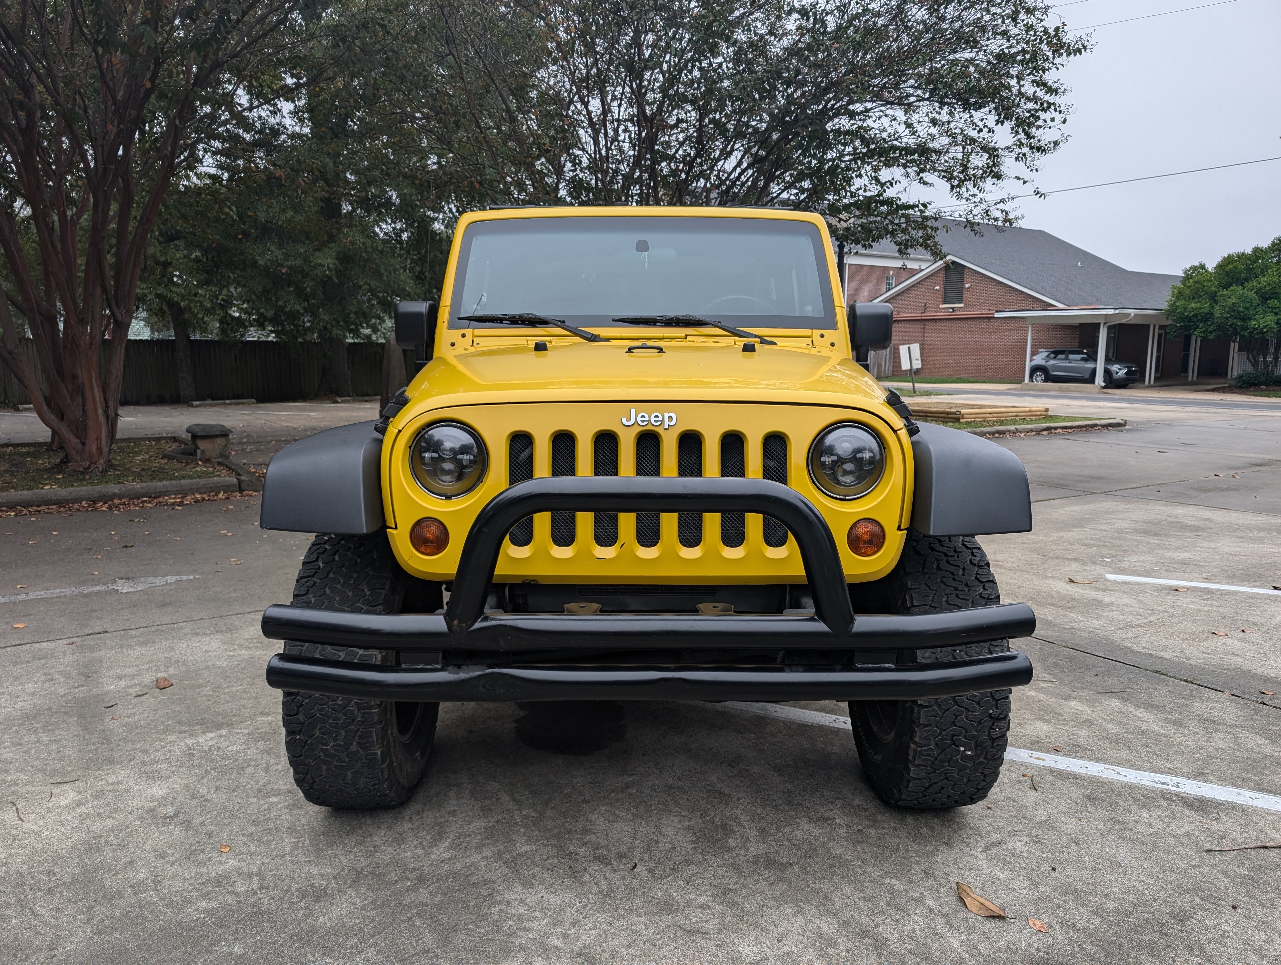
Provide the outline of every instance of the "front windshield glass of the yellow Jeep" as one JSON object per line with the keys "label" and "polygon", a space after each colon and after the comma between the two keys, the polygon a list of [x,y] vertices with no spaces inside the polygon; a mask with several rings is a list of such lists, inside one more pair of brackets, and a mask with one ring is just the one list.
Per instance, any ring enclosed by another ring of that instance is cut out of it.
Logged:
{"label": "front windshield glass of the yellow Jeep", "polygon": [[[770,218],[512,218],[468,227],[460,315],[535,313],[574,326],[699,315],[747,328],[835,328],[826,252],[807,222]],[[692,322],[697,326],[697,322]]]}

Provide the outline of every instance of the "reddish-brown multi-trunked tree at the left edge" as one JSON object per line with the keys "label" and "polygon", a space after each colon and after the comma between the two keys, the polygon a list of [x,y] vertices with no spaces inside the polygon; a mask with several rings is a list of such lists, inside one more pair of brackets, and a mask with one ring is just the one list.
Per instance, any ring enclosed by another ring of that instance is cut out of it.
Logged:
{"label": "reddish-brown multi-trunked tree at the left edge", "polygon": [[[108,466],[149,236],[270,85],[295,0],[0,4],[0,358],[73,468]],[[20,351],[35,342],[38,373]]]}

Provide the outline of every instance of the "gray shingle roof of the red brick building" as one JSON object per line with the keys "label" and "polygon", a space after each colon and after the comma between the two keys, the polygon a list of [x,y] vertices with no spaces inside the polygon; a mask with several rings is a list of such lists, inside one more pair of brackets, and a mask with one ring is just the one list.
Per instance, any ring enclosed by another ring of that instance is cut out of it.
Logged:
{"label": "gray shingle roof of the red brick building", "polygon": [[[1181,279],[1177,274],[1127,272],[1034,228],[983,226],[983,233],[976,236],[963,222],[945,219],[940,224],[939,242],[947,254],[1063,305],[1164,309],[1171,286]],[[897,249],[879,242],[872,251],[894,254]],[[912,254],[929,256],[925,251]]]}

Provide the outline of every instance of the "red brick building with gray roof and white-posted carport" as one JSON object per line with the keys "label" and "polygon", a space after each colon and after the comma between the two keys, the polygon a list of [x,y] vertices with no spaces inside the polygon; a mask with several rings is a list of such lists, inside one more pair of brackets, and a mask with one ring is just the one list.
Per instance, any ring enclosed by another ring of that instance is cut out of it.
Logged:
{"label": "red brick building with gray roof and white-posted carport", "polygon": [[1236,374],[1227,340],[1166,336],[1180,276],[1129,272],[1044,231],[981,232],[942,222],[943,259],[890,245],[845,254],[845,297],[894,306],[894,347],[875,354],[875,374],[898,372],[897,346],[918,342],[922,375],[1025,381],[1038,350],[1098,349],[1100,338],[1145,384]]}

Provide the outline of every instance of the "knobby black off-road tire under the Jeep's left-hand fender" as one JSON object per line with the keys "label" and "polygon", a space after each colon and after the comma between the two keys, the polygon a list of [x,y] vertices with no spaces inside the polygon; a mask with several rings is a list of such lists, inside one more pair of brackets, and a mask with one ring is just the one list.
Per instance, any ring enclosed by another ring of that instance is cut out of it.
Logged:
{"label": "knobby black off-road tire under the Jeep's left-hand fender", "polygon": [[[347,613],[400,613],[411,577],[383,532],[320,534],[293,586],[293,605]],[[389,650],[287,641],[286,654],[395,664]],[[284,691],[284,750],[293,780],[315,805],[395,807],[414,793],[436,738],[439,704],[405,704]]]}

